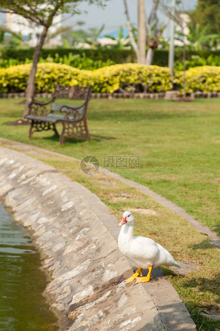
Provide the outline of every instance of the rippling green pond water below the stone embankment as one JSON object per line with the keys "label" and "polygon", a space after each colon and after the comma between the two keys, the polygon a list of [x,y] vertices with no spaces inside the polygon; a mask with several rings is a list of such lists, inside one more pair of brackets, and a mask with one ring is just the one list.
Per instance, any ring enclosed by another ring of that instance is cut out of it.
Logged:
{"label": "rippling green pond water below the stone embankment", "polygon": [[46,275],[25,228],[0,203],[0,330],[56,331],[42,293]]}

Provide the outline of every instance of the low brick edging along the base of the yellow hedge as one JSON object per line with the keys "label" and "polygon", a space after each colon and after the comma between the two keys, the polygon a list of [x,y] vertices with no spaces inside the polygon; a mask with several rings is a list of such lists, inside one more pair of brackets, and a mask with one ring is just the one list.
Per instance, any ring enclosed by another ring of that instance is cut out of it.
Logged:
{"label": "low brick edging along the base of the yellow hedge", "polygon": [[[36,98],[51,98],[52,93],[35,93]],[[166,92],[156,92],[156,93],[92,93],[92,98],[95,99],[166,99],[173,100],[176,98],[181,98],[179,91],[166,91]],[[0,99],[7,98],[25,98],[25,92],[20,93],[0,93]],[[187,99],[198,99],[198,98],[220,98],[220,92],[192,92]]]}

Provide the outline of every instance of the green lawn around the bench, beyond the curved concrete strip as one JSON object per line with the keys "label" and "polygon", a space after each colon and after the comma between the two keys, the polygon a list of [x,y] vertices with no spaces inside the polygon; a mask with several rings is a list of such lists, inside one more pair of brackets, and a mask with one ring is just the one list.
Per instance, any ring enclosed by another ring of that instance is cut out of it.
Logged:
{"label": "green lawn around the bench, beyond the curved concrete strip", "polygon": [[123,176],[173,201],[220,235],[219,99],[190,103],[92,99],[88,109],[92,140],[68,139],[64,146],[52,131],[36,132],[29,139],[27,126],[5,125],[21,117],[23,105],[15,104],[19,100],[1,100],[2,137],[79,159],[94,155],[101,166],[105,155],[140,156],[139,174]]}

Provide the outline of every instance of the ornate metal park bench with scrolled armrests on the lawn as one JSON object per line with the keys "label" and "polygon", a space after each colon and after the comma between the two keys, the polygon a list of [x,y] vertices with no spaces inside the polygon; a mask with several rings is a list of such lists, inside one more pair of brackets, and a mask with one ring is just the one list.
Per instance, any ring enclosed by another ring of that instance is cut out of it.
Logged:
{"label": "ornate metal park bench with scrolled armrests on the lawn", "polygon": [[[56,124],[62,123],[61,144],[65,139],[76,136],[86,136],[90,140],[86,115],[91,92],[91,86],[55,85],[52,98],[48,102],[32,101],[29,104],[30,115],[24,116],[24,118],[31,119],[29,138],[32,137],[33,131],[54,130],[59,135]],[[74,106],[56,103],[56,98],[78,99],[84,100],[84,102],[80,106]],[[47,105],[50,105],[49,110]]]}

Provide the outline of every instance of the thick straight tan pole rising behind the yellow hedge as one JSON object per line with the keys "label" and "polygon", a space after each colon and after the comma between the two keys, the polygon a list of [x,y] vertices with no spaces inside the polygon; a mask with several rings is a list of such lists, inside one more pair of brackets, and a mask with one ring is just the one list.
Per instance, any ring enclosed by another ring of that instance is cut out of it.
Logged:
{"label": "thick straight tan pole rising behind the yellow hedge", "polygon": [[137,62],[145,64],[146,57],[146,22],[144,0],[138,0],[138,59]]}

